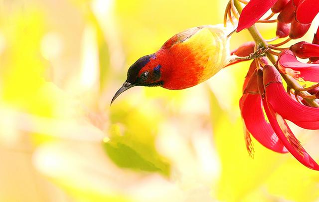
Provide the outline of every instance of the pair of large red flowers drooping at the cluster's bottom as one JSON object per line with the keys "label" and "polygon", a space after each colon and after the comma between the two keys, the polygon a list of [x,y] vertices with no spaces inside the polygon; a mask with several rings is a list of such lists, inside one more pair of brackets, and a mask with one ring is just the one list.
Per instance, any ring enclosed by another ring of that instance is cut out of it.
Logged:
{"label": "pair of large red flowers drooping at the cluster's bottom", "polygon": [[[262,104],[269,123],[265,120]],[[280,153],[288,150],[305,166],[319,170],[319,165],[301,146],[285,121],[287,119],[304,128],[318,129],[319,109],[293,100],[285,91],[275,67],[266,65],[262,71],[258,70],[257,75],[251,76],[240,99],[240,109],[247,130],[261,144]]]}

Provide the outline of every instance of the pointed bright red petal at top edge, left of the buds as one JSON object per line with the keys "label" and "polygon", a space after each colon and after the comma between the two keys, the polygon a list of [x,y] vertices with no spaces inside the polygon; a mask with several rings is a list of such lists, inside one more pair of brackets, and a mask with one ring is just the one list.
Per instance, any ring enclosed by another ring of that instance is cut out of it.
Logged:
{"label": "pointed bright red petal at top edge, left of the buds", "polygon": [[255,24],[276,1],[277,0],[250,0],[240,14],[237,32]]}

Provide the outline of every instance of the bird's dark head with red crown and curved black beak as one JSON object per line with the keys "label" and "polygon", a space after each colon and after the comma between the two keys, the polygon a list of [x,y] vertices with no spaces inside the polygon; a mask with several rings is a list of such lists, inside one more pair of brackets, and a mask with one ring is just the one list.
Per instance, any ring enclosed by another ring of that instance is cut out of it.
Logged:
{"label": "bird's dark head with red crown and curved black beak", "polygon": [[127,79],[115,93],[111,104],[121,93],[134,86],[162,86],[161,71],[160,60],[156,54],[141,57],[129,68]]}

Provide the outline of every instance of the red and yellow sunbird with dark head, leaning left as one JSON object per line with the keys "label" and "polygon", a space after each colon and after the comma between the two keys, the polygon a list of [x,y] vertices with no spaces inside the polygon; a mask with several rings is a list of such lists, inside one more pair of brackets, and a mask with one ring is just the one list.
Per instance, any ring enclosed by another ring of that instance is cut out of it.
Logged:
{"label": "red and yellow sunbird with dark head, leaning left", "polygon": [[[128,70],[127,79],[113,101],[134,86],[161,86],[180,90],[206,81],[228,64],[240,59],[230,54],[233,27],[203,25],[175,34],[157,52],[138,59]],[[260,52],[257,55],[261,56]]]}

